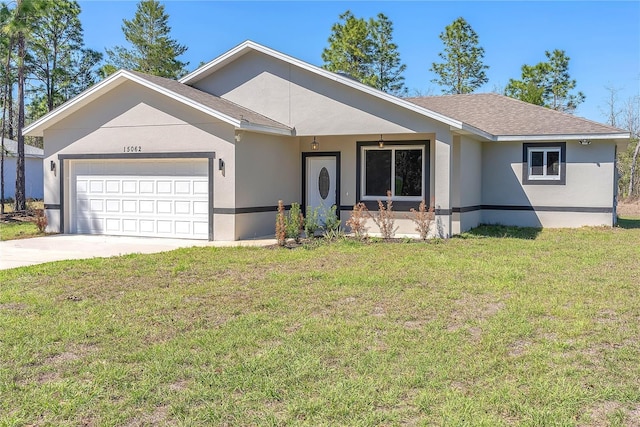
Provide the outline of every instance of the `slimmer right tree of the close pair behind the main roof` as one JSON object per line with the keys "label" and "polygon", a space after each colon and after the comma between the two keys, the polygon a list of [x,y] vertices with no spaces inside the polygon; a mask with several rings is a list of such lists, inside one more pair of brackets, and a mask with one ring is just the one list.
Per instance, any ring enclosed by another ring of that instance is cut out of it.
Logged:
{"label": "slimmer right tree of the close pair behind the main roof", "polygon": [[406,94],[402,73],[407,66],[401,63],[398,45],[393,42],[393,23],[384,14],[379,13],[378,19],[369,20],[369,29],[373,43],[373,86],[394,95]]}

